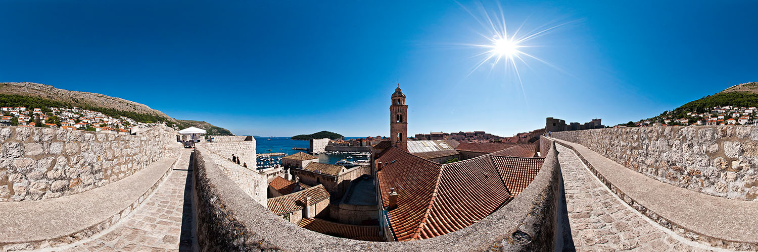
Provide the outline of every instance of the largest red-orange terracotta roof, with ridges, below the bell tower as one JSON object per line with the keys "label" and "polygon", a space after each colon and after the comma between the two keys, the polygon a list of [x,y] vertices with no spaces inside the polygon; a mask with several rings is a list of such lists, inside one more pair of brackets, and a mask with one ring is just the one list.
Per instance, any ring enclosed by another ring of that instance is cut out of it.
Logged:
{"label": "largest red-orange terracotta roof, with ridges, below the bell tower", "polygon": [[389,207],[388,194],[395,188],[398,206],[388,211],[388,221],[397,241],[408,241],[445,235],[484,219],[515,196],[511,186],[521,192],[531,183],[543,158],[488,154],[443,165],[390,148],[379,160],[387,163],[377,172],[382,206]]}

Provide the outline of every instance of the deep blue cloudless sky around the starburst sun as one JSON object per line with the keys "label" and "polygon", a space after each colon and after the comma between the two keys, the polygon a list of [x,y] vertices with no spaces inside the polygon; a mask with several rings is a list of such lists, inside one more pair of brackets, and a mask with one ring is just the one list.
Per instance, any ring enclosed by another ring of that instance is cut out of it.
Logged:
{"label": "deep blue cloudless sky around the starburst sun", "polygon": [[399,82],[410,134],[509,136],[545,117],[653,117],[758,81],[758,2],[481,4],[490,14],[500,5],[509,31],[565,24],[522,48],[550,64],[518,61],[523,89],[502,62],[472,72],[483,50],[466,44],[492,33],[465,1],[3,1],[0,82],[275,136],[389,135]]}

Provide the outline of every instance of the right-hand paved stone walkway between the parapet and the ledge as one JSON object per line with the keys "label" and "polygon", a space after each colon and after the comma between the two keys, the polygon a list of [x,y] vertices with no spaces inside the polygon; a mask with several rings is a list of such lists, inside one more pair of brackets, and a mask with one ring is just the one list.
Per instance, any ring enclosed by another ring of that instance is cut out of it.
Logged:
{"label": "right-hand paved stone walkway between the parapet and the ledge", "polygon": [[681,242],[647,222],[647,217],[615,198],[573,151],[556,147],[577,251],[712,251]]}

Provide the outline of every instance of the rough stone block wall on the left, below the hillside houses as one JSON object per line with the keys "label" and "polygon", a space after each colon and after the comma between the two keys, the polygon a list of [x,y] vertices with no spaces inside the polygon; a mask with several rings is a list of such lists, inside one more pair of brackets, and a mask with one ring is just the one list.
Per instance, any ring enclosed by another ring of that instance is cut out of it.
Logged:
{"label": "rough stone block wall on the left, below the hillside houses", "polygon": [[2,126],[0,201],[38,201],[108,185],[175,156],[176,139],[166,126],[138,135]]}

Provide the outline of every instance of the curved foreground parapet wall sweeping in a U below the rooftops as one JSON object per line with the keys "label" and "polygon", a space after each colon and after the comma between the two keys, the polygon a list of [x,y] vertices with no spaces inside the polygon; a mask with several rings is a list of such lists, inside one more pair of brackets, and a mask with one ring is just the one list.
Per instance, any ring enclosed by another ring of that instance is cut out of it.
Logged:
{"label": "curved foreground parapet wall sweeping in a U below the rooftops", "polygon": [[371,242],[302,229],[271,213],[198,148],[195,159],[197,239],[218,251],[547,251],[562,247],[560,165],[555,148],[534,181],[509,204],[471,226],[420,241]]}

